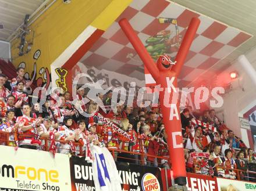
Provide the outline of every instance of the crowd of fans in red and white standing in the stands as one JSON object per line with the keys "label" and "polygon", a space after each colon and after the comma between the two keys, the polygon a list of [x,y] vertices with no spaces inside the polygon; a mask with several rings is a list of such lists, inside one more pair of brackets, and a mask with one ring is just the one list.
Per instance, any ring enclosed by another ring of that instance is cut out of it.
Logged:
{"label": "crowd of fans in red and white standing in the stands", "polygon": [[[115,152],[115,160],[118,161],[170,167],[171,161],[166,160],[169,156],[168,137],[160,107],[129,107],[119,102],[116,111],[113,111],[112,91],[109,91],[106,95],[98,94],[108,110],[104,113],[93,101],[83,104],[82,98],[86,97],[86,93],[80,88],[75,99],[80,109],[92,114],[91,117],[79,113],[70,102],[69,92],[52,93],[42,106],[35,103],[31,108],[29,95],[32,82],[25,80],[24,69],[18,68],[17,77],[12,81],[7,79],[0,73],[0,131],[10,133],[10,146],[40,150],[47,150],[48,147],[48,150],[56,149],[59,153],[79,154],[79,148],[74,143],[80,143],[83,156],[90,160],[93,159],[90,158],[90,145],[93,144],[126,150],[127,153]],[[59,104],[56,106],[56,103]],[[115,122],[122,131],[106,124],[97,113]],[[180,113],[180,118],[187,171],[232,179],[237,178],[239,173],[241,179],[247,179],[248,164],[255,162],[253,150],[218,120],[215,110],[205,110],[200,114],[187,107]],[[150,156],[141,157],[128,151]]]}

